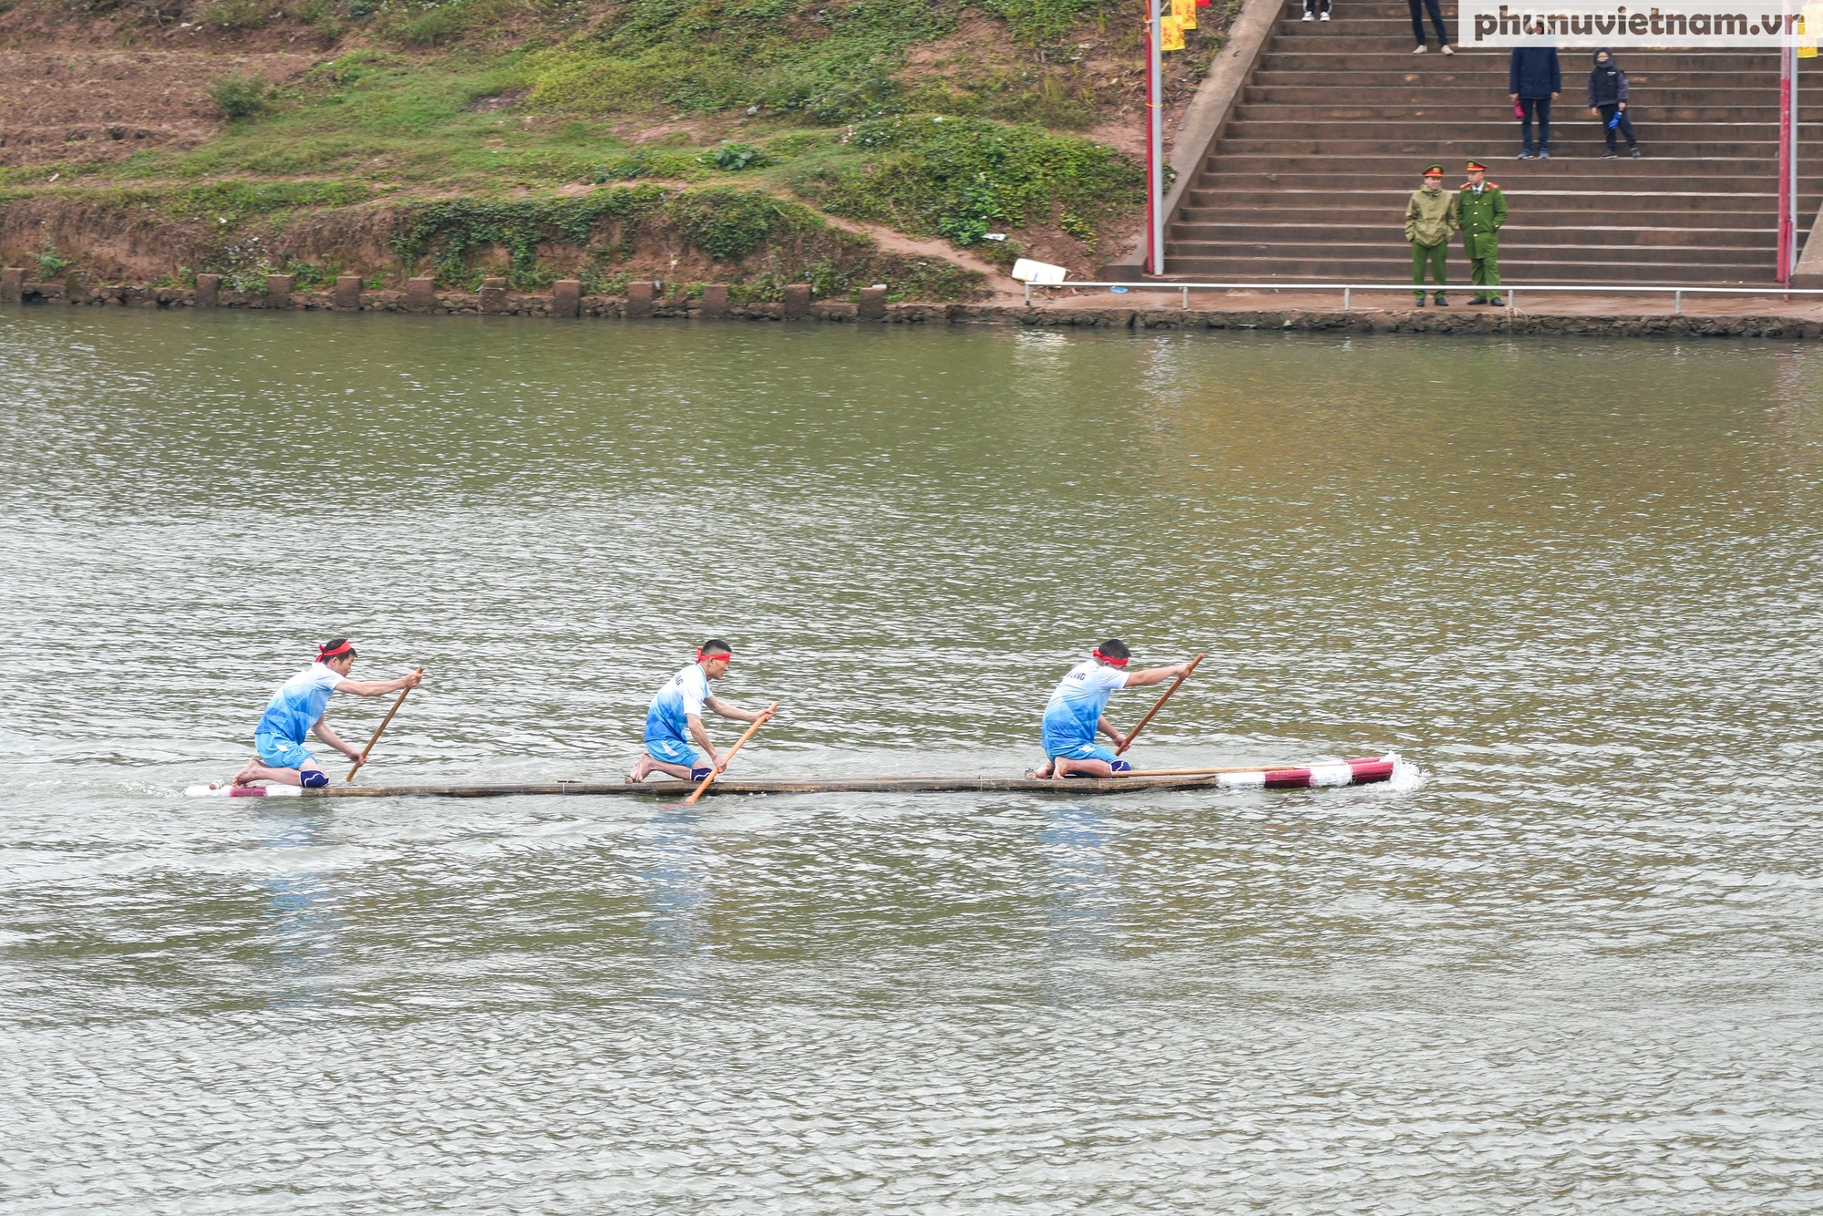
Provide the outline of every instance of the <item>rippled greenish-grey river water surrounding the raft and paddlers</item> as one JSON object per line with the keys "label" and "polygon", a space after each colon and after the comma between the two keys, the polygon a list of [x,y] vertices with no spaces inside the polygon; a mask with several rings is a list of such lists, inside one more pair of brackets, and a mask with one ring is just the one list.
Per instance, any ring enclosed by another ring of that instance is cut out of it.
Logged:
{"label": "rippled greenish-grey river water surrounding the raft and paddlers", "polygon": [[[0,314],[0,1211],[1818,1211],[1819,368]],[[1017,773],[1108,634],[1141,764],[1407,764],[179,797],[335,634],[365,782],[611,780],[707,633],[747,775]]]}

